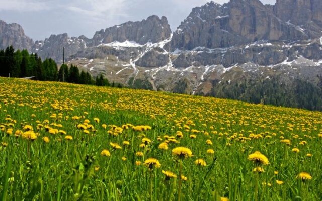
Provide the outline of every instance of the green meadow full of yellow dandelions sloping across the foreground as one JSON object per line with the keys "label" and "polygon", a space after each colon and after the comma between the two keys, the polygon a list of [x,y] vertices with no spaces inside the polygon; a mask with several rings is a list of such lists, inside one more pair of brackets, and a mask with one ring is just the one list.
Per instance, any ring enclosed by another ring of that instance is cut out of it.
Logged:
{"label": "green meadow full of yellow dandelions sloping across the foreground", "polygon": [[0,78],[2,200],[322,200],[322,113]]}

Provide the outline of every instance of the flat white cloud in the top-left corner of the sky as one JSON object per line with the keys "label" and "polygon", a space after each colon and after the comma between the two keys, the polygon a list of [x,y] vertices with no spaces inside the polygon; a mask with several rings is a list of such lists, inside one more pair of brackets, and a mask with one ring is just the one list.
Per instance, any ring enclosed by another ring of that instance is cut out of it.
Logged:
{"label": "flat white cloud in the top-left corner of the sky", "polygon": [[42,11],[50,9],[46,2],[37,0],[0,0],[0,11]]}

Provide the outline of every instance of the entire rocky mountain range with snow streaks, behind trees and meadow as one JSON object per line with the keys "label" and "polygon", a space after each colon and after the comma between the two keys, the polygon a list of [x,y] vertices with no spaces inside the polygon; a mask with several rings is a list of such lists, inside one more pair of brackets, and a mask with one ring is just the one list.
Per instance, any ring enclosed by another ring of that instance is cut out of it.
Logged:
{"label": "entire rocky mountain range with snow streaks, behind trees and meadow", "polygon": [[51,35],[33,41],[0,20],[0,49],[12,44],[134,88],[216,95],[223,84],[274,79],[322,86],[322,1],[209,2],[193,8],[174,32],[166,17],[97,31],[92,39]]}

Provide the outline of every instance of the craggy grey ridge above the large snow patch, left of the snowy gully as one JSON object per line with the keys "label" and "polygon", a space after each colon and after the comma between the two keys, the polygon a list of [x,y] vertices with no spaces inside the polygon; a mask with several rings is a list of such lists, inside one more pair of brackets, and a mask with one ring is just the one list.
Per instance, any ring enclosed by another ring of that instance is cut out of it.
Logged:
{"label": "craggy grey ridge above the large snow patch, left of the snowy gully", "polygon": [[121,25],[102,29],[95,33],[92,45],[111,43],[113,41],[135,41],[139,44],[148,42],[156,43],[169,38],[171,35],[170,25],[166,17],[161,19],[155,15],[141,22],[127,22]]}

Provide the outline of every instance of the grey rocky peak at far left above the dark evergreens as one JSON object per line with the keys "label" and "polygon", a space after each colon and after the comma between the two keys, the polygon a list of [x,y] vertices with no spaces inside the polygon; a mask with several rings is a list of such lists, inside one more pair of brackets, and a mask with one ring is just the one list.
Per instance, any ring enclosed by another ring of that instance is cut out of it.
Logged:
{"label": "grey rocky peak at far left above the dark evergreens", "polygon": [[33,40],[25,35],[23,28],[16,24],[7,24],[0,20],[0,49],[13,45],[15,49],[27,49],[31,51]]}

